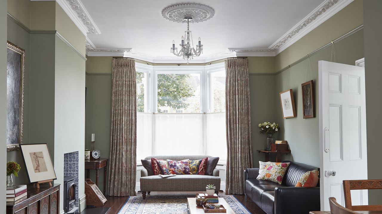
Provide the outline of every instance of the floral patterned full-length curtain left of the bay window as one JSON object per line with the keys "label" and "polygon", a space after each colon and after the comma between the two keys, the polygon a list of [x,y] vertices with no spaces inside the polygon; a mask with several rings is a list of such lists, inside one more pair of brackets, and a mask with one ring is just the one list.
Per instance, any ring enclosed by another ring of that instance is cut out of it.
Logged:
{"label": "floral patterned full-length curtain left of the bay window", "polygon": [[134,59],[113,59],[108,195],[136,195],[137,104]]}

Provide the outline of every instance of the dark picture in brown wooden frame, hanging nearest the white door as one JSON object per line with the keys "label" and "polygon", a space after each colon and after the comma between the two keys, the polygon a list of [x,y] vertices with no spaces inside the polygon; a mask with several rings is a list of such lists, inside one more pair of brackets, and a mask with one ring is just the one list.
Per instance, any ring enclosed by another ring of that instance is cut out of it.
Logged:
{"label": "dark picture in brown wooden frame, hanging nearest the white door", "polygon": [[303,94],[303,118],[315,117],[313,80],[301,84],[301,92]]}

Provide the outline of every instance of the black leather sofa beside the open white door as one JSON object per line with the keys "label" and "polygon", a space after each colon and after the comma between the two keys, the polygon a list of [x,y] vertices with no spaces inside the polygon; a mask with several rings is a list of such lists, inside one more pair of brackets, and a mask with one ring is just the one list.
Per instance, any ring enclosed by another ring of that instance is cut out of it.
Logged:
{"label": "black leather sofa beside the open white door", "polygon": [[[320,210],[320,187],[295,187],[301,176],[317,167],[303,163],[290,162],[282,184],[266,180],[257,180],[256,168],[244,170],[245,197],[250,198],[267,214],[309,214]],[[248,173],[250,171],[251,173]],[[255,171],[255,172],[254,172]]]}

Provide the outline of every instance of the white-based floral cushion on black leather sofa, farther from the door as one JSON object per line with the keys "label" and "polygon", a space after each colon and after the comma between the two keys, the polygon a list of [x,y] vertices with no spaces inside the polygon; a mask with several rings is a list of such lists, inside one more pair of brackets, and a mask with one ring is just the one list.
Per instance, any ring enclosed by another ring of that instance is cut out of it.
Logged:
{"label": "white-based floral cushion on black leather sofa, farther from the door", "polygon": [[259,175],[259,180],[269,180],[281,184],[286,169],[290,163],[274,163],[268,162],[264,171]]}

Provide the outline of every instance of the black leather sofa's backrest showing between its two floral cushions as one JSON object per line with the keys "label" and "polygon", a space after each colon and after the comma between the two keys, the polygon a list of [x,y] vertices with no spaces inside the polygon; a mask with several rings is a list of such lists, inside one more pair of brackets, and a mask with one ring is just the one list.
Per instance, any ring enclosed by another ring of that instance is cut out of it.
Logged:
{"label": "black leather sofa's backrest showing between its two floral cushions", "polygon": [[[287,187],[294,187],[298,180],[305,172],[316,170],[317,167],[310,166],[304,163],[297,163],[294,161],[283,161],[283,163],[290,162],[288,169],[286,169],[285,175],[283,177],[283,185]],[[317,187],[319,187],[320,182],[318,182]]]}

